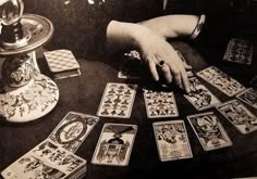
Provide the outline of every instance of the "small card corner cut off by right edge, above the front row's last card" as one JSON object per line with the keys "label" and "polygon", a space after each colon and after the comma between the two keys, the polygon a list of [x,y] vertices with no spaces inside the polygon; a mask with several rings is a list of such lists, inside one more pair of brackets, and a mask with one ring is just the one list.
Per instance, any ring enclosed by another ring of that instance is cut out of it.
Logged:
{"label": "small card corner cut off by right edge, above the front row's last card", "polygon": [[237,99],[257,108],[257,89],[249,88],[235,95]]}

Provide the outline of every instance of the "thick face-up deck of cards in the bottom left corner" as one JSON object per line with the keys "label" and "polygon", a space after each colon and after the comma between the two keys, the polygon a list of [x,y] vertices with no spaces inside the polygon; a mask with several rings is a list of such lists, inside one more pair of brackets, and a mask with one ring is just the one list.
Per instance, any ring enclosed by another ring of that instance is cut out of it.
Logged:
{"label": "thick face-up deck of cards in the bottom left corner", "polygon": [[86,172],[86,161],[47,139],[20,157],[1,175],[4,179],[79,177]]}

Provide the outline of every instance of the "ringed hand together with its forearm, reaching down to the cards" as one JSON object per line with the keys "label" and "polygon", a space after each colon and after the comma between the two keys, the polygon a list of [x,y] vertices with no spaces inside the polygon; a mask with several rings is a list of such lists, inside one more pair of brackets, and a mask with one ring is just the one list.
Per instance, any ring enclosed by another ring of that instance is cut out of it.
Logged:
{"label": "ringed hand together with its forearm, reaching down to the cards", "polygon": [[164,38],[149,28],[139,24],[112,21],[107,29],[107,44],[115,49],[136,48],[149,66],[154,80],[158,81],[162,75],[168,84],[174,80],[180,88],[189,93],[186,69],[191,67],[184,65]]}

